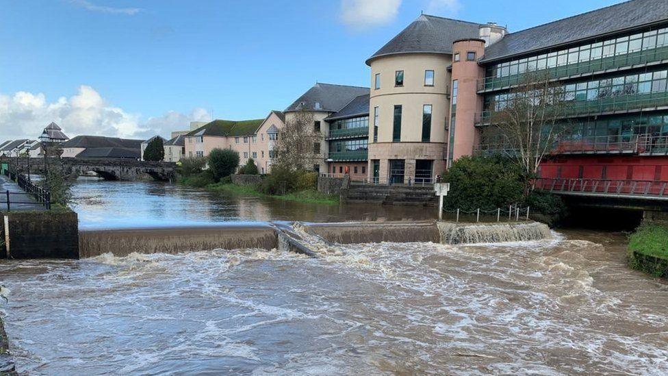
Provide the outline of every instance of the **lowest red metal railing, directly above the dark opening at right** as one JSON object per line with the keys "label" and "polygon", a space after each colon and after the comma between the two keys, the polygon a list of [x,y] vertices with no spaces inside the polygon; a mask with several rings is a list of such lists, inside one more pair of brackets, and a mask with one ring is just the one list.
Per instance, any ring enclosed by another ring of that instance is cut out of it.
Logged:
{"label": "lowest red metal railing, directly above the dark opening at right", "polygon": [[668,199],[666,181],[541,177],[534,179],[532,188],[571,195]]}

